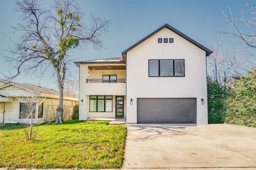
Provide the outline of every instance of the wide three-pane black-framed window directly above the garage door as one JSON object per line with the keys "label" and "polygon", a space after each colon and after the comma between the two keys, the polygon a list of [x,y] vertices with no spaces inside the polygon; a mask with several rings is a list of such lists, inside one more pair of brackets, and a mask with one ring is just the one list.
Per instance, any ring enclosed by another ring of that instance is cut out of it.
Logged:
{"label": "wide three-pane black-framed window directly above the garage door", "polygon": [[149,77],[184,77],[184,59],[148,60]]}

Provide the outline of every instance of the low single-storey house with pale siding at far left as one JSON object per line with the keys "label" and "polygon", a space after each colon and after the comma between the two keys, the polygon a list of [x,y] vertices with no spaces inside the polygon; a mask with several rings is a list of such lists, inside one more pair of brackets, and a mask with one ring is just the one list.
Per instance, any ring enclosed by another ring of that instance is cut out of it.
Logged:
{"label": "low single-storey house with pale siding at far left", "polygon": [[[58,98],[56,90],[0,79],[0,124],[28,123],[28,102],[32,102],[36,108],[33,112],[34,123],[54,121]],[[71,118],[77,102],[78,98],[64,94],[64,120]]]}

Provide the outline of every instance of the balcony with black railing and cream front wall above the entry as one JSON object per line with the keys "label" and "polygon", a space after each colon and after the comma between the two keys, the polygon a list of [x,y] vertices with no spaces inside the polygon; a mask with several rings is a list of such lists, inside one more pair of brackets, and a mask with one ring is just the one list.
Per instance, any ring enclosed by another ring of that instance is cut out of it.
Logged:
{"label": "balcony with black railing and cream front wall above the entry", "polygon": [[86,79],[86,95],[126,95],[126,79]]}

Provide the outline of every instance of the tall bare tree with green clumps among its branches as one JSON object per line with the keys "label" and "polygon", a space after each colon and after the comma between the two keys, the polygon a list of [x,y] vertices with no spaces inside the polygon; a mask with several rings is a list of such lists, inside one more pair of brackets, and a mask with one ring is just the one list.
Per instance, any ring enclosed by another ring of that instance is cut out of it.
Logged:
{"label": "tall bare tree with green clumps among its branches", "polygon": [[59,113],[56,123],[63,123],[63,88],[66,78],[68,51],[72,48],[91,44],[96,49],[103,47],[102,33],[106,33],[110,21],[93,13],[86,24],[84,13],[73,0],[55,0],[48,8],[43,8],[39,0],[16,1],[16,11],[22,12],[15,31],[23,35],[6,56],[11,66],[20,72],[42,75],[48,66],[56,74],[59,90]]}

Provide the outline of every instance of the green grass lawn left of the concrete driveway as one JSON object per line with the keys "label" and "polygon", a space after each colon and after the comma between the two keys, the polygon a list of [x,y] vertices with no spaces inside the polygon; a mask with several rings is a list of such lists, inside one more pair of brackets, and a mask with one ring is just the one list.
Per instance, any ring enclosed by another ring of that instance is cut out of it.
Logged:
{"label": "green grass lawn left of the concrete driveway", "polygon": [[126,127],[109,121],[66,121],[40,125],[27,141],[20,125],[0,126],[0,167],[120,168]]}

